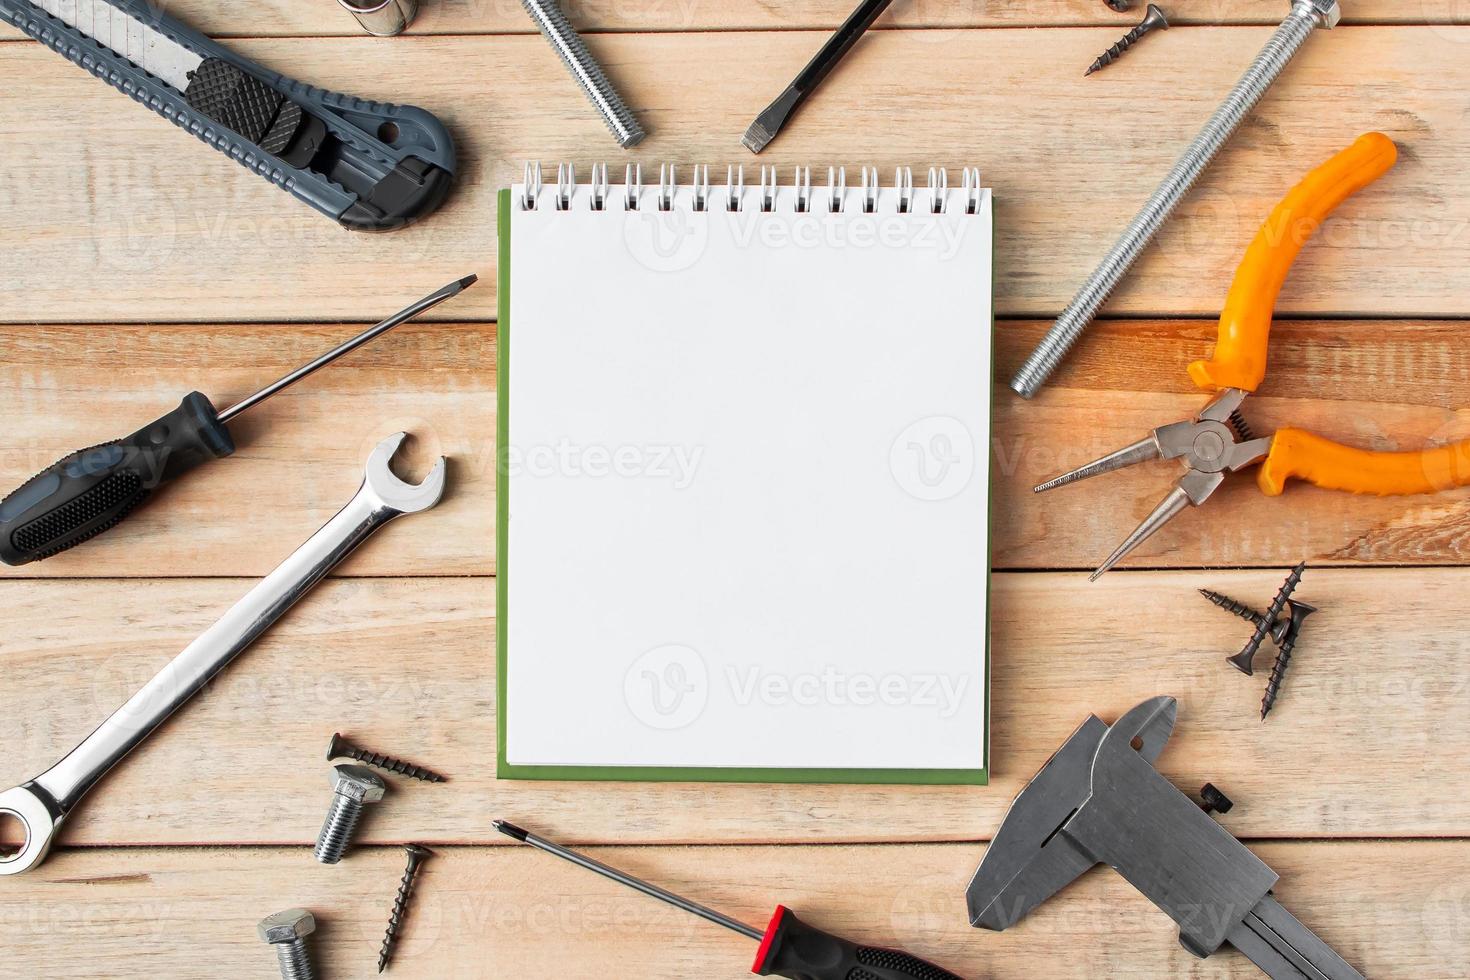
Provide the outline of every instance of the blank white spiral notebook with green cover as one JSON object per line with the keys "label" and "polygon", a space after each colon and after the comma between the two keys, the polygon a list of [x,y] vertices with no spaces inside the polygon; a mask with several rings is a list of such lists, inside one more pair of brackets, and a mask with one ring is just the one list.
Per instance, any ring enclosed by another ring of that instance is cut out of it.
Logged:
{"label": "blank white spiral notebook with green cover", "polygon": [[983,783],[991,191],[723,176],[500,192],[498,773]]}

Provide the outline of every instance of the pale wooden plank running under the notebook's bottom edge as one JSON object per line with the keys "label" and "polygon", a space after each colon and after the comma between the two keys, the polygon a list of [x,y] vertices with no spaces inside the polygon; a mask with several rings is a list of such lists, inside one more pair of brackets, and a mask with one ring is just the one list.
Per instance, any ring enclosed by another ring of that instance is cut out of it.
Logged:
{"label": "pale wooden plank running under the notebook's bottom edge", "polygon": [[[391,552],[415,522],[428,532],[432,520],[404,519],[370,547]],[[1436,667],[1470,655],[1470,641],[1436,626],[1470,573],[1310,572],[1301,598],[1323,611],[1263,726],[1264,673],[1247,679],[1225,664],[1250,626],[1195,589],[1264,605],[1279,582],[1276,572],[1127,573],[1095,585],[1079,574],[998,574],[994,783],[975,790],[497,780],[491,582],[334,580],[116,770],[63,840],[312,842],[331,801],[320,755],[334,730],[453,780],[398,788],[365,826],[370,840],[484,843],[495,837],[495,815],[594,842],[979,840],[1089,711],[1111,721],[1158,693],[1180,699],[1160,768],[1188,790],[1214,782],[1239,801],[1225,818],[1238,835],[1470,835],[1466,808],[1446,805],[1444,770],[1402,763],[1448,760],[1470,739],[1466,674]],[[26,632],[6,645],[6,698],[18,713],[0,783],[59,758],[248,585],[4,583],[4,607]],[[160,785],[178,792],[150,792]]]}

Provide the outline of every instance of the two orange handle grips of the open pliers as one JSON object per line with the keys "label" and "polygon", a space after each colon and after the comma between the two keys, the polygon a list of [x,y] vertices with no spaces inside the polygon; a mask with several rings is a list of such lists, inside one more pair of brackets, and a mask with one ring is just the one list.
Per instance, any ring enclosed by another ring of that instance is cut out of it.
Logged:
{"label": "two orange handle grips of the open pliers", "polygon": [[[1313,170],[1282,198],[1245,251],[1220,314],[1214,356],[1189,364],[1189,376],[1205,391],[1255,391],[1266,378],[1266,359],[1276,298],[1292,263],[1323,220],[1364,187],[1392,169],[1398,147],[1382,132],[1357,143]],[[1352,494],[1433,494],[1470,485],[1470,441],[1420,453],[1372,453],[1341,445],[1301,429],[1280,429],[1257,482],[1280,494],[1298,478]]]}

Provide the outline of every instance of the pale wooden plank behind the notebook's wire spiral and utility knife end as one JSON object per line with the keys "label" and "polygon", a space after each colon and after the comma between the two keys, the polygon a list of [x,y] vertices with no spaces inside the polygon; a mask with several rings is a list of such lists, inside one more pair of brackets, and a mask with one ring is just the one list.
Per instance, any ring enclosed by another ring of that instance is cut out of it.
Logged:
{"label": "pale wooden plank behind the notebook's wire spiral and utility knife end", "polygon": [[[266,181],[109,93],[35,44],[0,46],[10,79],[7,162],[44,194],[0,185],[0,319],[12,322],[365,319],[478,272],[484,287],[437,319],[492,319],[492,195],[526,160],[579,173],[626,160],[656,179],[761,163],[979,166],[995,188],[995,304],[1048,316],[1169,172],[1267,38],[1261,28],[1176,31],[1126,68],[1082,69],[1113,31],[888,31],[864,43],[760,159],[739,145],[806,63],[807,32],[610,35],[609,72],[653,134],[632,154],[539,37],[243,41],[288,75],[422,104],[453,129],[465,170],[444,210],[372,239],[341,231]],[[1398,167],[1348,201],[1297,264],[1283,313],[1460,316],[1470,292],[1470,128],[1458,78],[1470,26],[1344,28],[1313,38],[1183,204],[1110,310],[1213,314],[1255,228],[1308,169],[1369,129]],[[456,71],[447,72],[444,65]],[[1189,65],[1179,72],[1179,65]],[[365,68],[370,66],[370,72]],[[779,79],[775,81],[773,79]],[[1057,118],[1036,106],[1067,106]],[[65,109],[65,110],[63,110]],[[65,151],[60,151],[65,148]],[[366,253],[370,251],[370,256]],[[290,254],[291,262],[282,263]],[[268,284],[269,288],[262,288]],[[106,314],[103,316],[103,310]]]}

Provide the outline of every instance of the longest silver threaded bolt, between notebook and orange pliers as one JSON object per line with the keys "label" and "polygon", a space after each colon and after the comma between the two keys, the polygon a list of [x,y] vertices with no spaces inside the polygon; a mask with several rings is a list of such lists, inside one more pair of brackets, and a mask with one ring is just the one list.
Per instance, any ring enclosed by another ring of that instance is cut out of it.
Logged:
{"label": "longest silver threaded bolt, between notebook and orange pliers", "polygon": [[1235,84],[1225,103],[1214,112],[1185,154],[1179,157],[1154,195],[1144,204],[1144,210],[1138,213],[1133,223],[1102,259],[1102,264],[1082,284],[1078,295],[1061,311],[1047,335],[1041,338],[1041,344],[1011,379],[1011,389],[1017,395],[1030,398],[1041,391],[1051,373],[1057,370],[1061,359],[1082,336],[1082,331],[1138,262],[1148,242],[1179,207],[1179,201],[1189,194],[1200,175],[1214,162],[1226,141],[1261,100],[1266,90],[1272,87],[1272,82],[1286,69],[1311,32],[1319,26],[1330,29],[1338,25],[1341,18],[1342,9],[1338,6],[1338,0],[1292,0],[1291,13],[1276,28],[1261,53],[1255,56],[1255,62]]}

